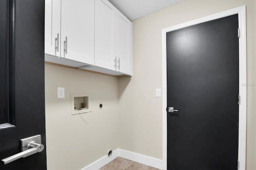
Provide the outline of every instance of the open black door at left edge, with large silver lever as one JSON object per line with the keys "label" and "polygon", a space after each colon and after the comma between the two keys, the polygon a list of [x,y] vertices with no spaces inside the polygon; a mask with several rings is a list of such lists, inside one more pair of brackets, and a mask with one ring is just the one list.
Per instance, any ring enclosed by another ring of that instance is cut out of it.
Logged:
{"label": "open black door at left edge, with large silver lever", "polygon": [[43,170],[44,0],[0,0],[0,30],[0,169]]}

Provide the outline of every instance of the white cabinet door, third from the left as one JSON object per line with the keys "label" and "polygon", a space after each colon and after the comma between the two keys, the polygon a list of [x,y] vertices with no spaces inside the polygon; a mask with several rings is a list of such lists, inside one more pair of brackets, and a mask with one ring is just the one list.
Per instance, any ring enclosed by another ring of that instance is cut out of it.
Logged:
{"label": "white cabinet door, third from the left", "polygon": [[95,0],[95,65],[116,70],[113,55],[113,6]]}

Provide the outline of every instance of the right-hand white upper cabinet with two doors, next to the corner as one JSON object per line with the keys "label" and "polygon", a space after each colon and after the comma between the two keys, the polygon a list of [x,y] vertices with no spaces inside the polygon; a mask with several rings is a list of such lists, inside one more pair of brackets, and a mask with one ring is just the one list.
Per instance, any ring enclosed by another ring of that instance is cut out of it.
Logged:
{"label": "right-hand white upper cabinet with two doors, next to the corner", "polygon": [[95,0],[95,65],[131,74],[132,23],[108,0]]}

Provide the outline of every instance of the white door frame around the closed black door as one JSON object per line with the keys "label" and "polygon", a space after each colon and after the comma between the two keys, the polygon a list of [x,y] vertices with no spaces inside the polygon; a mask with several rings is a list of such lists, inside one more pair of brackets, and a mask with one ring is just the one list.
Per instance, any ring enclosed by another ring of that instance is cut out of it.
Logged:
{"label": "white door frame around the closed black door", "polygon": [[226,16],[238,14],[238,28],[240,29],[239,38],[239,130],[238,130],[238,170],[245,170],[246,166],[246,6],[240,6],[231,10],[185,22],[176,26],[162,29],[162,117],[163,117],[163,169],[167,169],[167,73],[166,73],[166,33],[180,28],[185,28],[195,24],[216,20]]}

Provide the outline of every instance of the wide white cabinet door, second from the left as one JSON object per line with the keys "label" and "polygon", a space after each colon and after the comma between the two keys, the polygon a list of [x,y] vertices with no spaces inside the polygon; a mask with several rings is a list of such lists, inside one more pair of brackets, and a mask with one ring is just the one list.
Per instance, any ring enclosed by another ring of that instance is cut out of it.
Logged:
{"label": "wide white cabinet door, second from the left", "polygon": [[94,0],[61,0],[61,57],[94,64]]}

